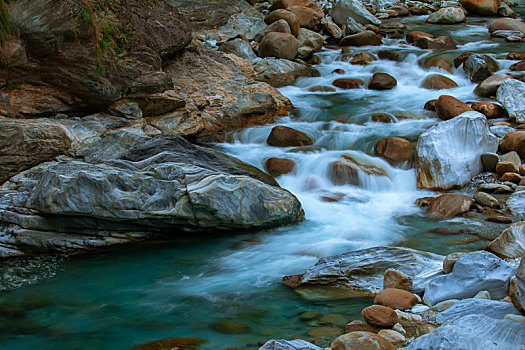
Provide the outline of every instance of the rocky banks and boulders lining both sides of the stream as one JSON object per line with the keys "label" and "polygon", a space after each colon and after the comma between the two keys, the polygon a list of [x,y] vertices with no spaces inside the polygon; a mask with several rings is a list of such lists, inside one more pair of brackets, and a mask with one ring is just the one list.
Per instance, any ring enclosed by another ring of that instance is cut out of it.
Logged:
{"label": "rocky banks and boulders lining both sides of the stream", "polygon": [[[365,322],[325,320],[328,327],[307,339],[313,343],[271,340],[261,349],[524,346],[525,52],[454,57],[447,52],[457,48],[457,39],[425,32],[424,24],[407,32],[395,22],[425,16],[428,25],[461,26],[467,17],[500,16],[487,23],[493,40],[522,43],[525,24],[513,8],[523,5],[122,0],[99,19],[99,25],[111,19],[108,33],[82,15],[80,3],[22,0],[5,6],[19,33],[2,41],[0,50],[0,258],[77,254],[159,236],[226,234],[304,220],[299,200],[273,178],[293,172],[292,160],[269,158],[267,174],[202,144],[292,112],[276,88],[319,76],[314,66],[321,50],[341,50],[352,64],[366,66],[378,58],[403,58],[395,50],[381,50],[376,58],[355,48],[404,39],[407,46],[433,51],[419,62],[424,68],[462,70],[478,84],[474,92],[482,101],[461,101],[445,91],[425,104],[440,121],[415,145],[385,137],[374,155],[416,169],[418,188],[436,194],[417,201],[428,207],[429,218],[476,213],[506,229],[490,237],[469,232],[489,243],[468,254],[376,247],[322,258],[304,274],[284,277],[284,284],[307,299],[374,297],[363,310]],[[118,40],[101,53],[97,40],[107,35]],[[500,59],[517,62],[498,73]],[[439,73],[421,84],[429,90],[458,86]],[[369,81],[342,77],[309,91],[397,85],[396,77],[377,71]],[[371,119],[405,117],[376,113]],[[275,126],[267,143],[300,148],[314,140]],[[330,163],[327,172],[335,185],[359,186],[360,174],[388,177],[349,155]],[[190,348],[176,340],[142,348],[163,344]]]}

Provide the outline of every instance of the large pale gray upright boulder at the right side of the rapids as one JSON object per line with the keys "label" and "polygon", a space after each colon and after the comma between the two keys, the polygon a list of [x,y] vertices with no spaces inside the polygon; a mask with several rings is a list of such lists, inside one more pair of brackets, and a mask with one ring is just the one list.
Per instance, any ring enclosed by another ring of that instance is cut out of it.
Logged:
{"label": "large pale gray upright boulder at the right side of the rapids", "polygon": [[417,143],[418,186],[447,190],[465,185],[483,169],[481,155],[496,152],[498,144],[481,113],[465,112],[438,123]]}

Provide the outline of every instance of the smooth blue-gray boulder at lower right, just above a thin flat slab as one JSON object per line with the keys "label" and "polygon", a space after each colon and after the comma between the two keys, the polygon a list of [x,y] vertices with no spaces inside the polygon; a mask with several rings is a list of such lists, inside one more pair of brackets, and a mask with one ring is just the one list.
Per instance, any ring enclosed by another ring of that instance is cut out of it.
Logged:
{"label": "smooth blue-gray boulder at lower right, just above a thin flat slab", "polygon": [[492,253],[468,253],[459,258],[450,274],[428,283],[423,300],[432,306],[443,300],[472,298],[481,290],[489,291],[494,299],[501,299],[508,295],[514,271],[513,265]]}

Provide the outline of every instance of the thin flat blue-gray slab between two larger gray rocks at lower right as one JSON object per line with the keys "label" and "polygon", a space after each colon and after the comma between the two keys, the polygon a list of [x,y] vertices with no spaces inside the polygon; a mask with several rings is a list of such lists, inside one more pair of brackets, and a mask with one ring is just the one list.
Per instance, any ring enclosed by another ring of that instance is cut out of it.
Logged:
{"label": "thin flat blue-gray slab between two larger gray rocks at lower right", "polygon": [[467,315],[485,315],[501,320],[507,314],[519,315],[520,312],[514,305],[505,301],[469,298],[460,300],[436,316],[436,321],[445,323],[455,317]]}

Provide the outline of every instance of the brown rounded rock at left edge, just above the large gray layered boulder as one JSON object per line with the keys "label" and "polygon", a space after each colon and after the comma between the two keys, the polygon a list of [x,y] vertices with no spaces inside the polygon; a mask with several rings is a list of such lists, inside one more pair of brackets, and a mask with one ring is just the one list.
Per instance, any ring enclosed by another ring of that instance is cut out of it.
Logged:
{"label": "brown rounded rock at left edge, just above the large gray layered boulder", "polygon": [[11,176],[65,154],[71,139],[59,125],[0,118],[0,184]]}

